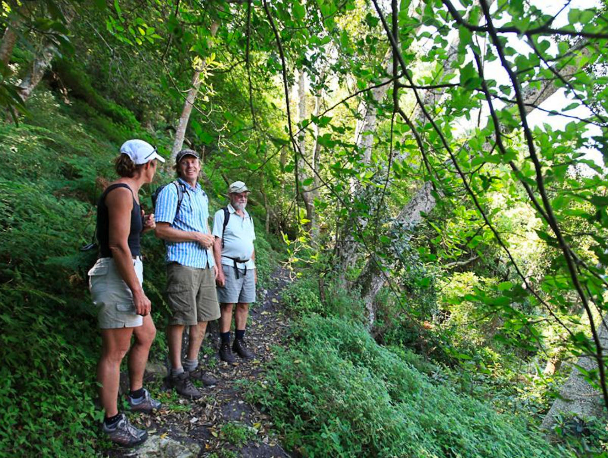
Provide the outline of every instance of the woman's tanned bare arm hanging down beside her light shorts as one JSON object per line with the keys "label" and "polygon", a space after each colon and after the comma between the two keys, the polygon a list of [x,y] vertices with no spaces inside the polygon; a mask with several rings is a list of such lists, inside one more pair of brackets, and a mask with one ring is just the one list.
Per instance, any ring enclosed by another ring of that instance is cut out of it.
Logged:
{"label": "woman's tanned bare arm hanging down beside her light shorts", "polygon": [[151,302],[137,279],[133,268],[133,256],[128,244],[131,231],[131,211],[133,211],[131,191],[126,188],[113,190],[106,196],[106,207],[108,207],[109,216],[109,248],[114,264],[123,281],[133,293],[133,303],[137,315],[148,315]]}

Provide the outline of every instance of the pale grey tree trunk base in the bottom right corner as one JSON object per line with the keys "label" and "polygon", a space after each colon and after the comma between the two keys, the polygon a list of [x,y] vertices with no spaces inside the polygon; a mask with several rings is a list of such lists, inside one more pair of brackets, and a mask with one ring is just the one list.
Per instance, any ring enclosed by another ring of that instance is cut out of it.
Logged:
{"label": "pale grey tree trunk base in the bottom right corner", "polygon": [[[608,348],[608,316],[604,316],[598,329],[599,343],[602,348]],[[584,356],[576,361],[576,365],[585,371],[598,368],[595,357]],[[604,400],[601,392],[593,388],[577,367],[572,368],[572,373],[559,391],[562,399],[556,400],[549,409],[545,419],[542,420],[542,428],[551,429],[555,424],[558,414],[570,412],[579,418],[604,417]]]}

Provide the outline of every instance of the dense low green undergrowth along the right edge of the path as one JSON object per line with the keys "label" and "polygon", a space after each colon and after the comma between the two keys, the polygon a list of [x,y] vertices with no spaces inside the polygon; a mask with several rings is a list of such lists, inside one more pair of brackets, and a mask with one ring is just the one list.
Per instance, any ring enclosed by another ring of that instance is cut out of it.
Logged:
{"label": "dense low green undergrowth along the right edge of the path", "polygon": [[250,394],[304,456],[568,456],[519,420],[435,385],[339,318],[304,318]]}

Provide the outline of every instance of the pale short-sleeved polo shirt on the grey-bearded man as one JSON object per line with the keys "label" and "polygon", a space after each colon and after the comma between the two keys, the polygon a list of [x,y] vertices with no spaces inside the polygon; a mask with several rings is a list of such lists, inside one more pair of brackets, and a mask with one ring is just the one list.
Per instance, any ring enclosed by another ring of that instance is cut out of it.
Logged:
{"label": "pale short-sleeved polo shirt on the grey-bearded man", "polygon": [[[224,231],[224,248],[222,248],[222,265],[234,265],[234,261],[229,258],[249,259],[244,264],[238,264],[238,268],[247,270],[255,268],[255,262],[251,259],[254,254],[255,230],[254,222],[247,213],[243,210],[244,217],[238,216],[237,211],[228,204],[230,217],[226,230]],[[220,209],[215,212],[213,217],[212,234],[218,239],[222,238],[224,227],[224,210]]]}

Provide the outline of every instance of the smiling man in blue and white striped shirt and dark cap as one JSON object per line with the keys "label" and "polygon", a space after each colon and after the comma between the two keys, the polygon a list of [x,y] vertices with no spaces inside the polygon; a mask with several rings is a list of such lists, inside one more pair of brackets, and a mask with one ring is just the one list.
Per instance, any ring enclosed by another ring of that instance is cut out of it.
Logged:
{"label": "smiling man in blue and white striped shirt and dark cap", "polygon": [[[198,184],[201,172],[198,154],[192,149],[183,149],[176,157],[175,169],[178,180],[165,186],[156,201],[154,233],[167,247],[167,299],[172,312],[167,329],[171,363],[168,380],[179,394],[196,399],[202,394],[193,385],[192,378],[206,386],[217,383],[215,378],[198,369],[198,353],[207,322],[220,316],[215,290],[218,274],[211,250],[213,236],[207,222],[209,198]],[[185,326],[190,327],[190,339],[182,365]]]}

